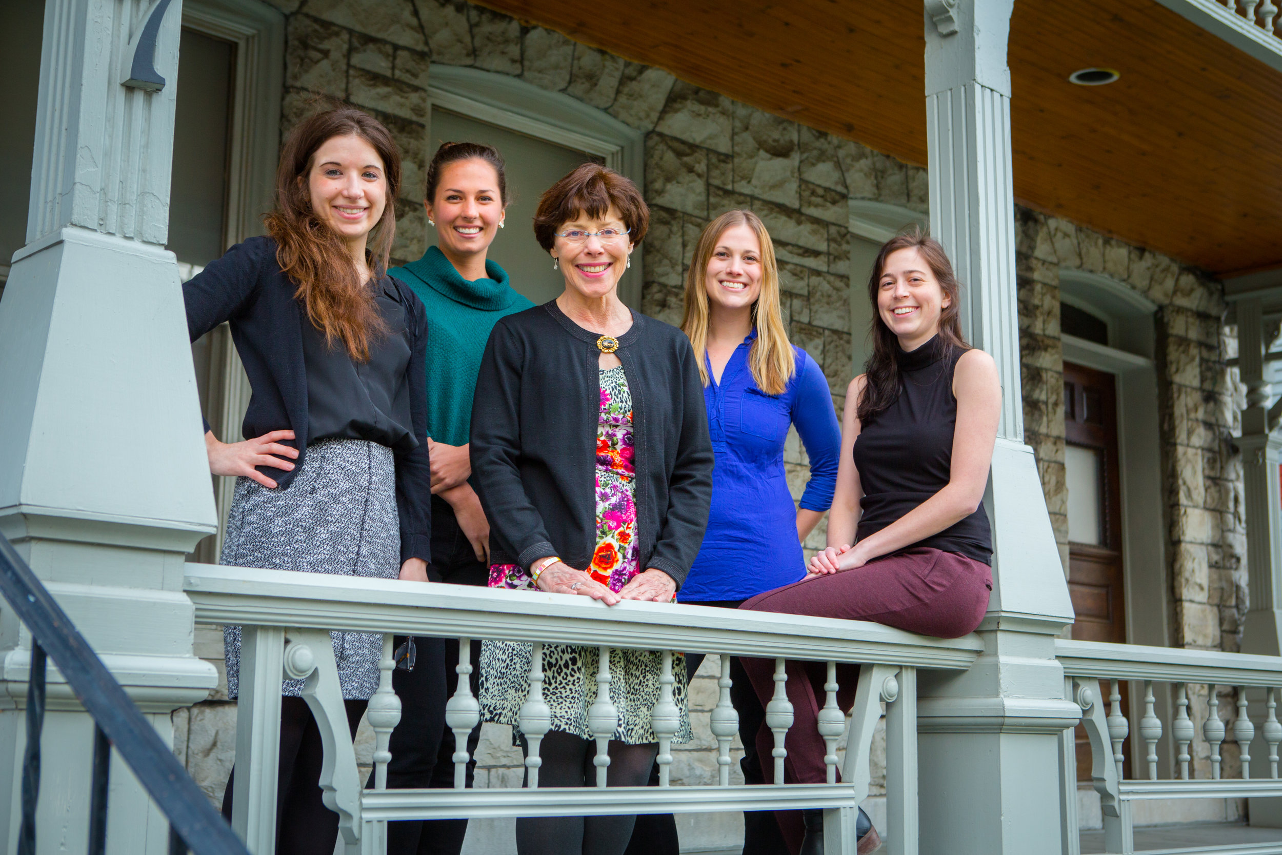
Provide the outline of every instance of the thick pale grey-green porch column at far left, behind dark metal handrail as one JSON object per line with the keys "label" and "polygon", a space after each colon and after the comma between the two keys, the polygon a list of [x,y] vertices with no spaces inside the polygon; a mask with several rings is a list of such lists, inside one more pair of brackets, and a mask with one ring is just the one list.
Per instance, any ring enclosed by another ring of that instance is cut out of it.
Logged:
{"label": "thick pale grey-green porch column at far left, behind dark metal handrail", "polygon": [[[0,304],[0,532],[165,737],[215,685],[183,556],[215,528],[168,229],[181,0],[47,0],[27,245]],[[0,608],[0,847],[31,638]],[[50,672],[38,851],[85,851],[92,722]],[[168,826],[117,759],[108,851]]]}

